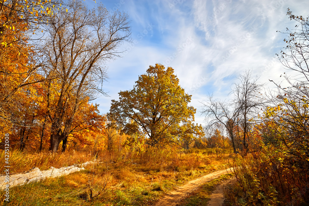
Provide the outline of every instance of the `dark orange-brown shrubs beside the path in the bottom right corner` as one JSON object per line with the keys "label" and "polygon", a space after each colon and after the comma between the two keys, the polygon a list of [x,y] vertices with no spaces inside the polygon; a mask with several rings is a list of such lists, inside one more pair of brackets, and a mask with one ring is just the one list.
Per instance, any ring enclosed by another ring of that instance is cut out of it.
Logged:
{"label": "dark orange-brown shrubs beside the path in the bottom right corner", "polygon": [[299,205],[307,202],[308,161],[305,153],[296,148],[294,140],[287,138],[288,131],[274,122],[260,124],[255,130],[250,134],[254,139],[251,152],[234,159],[238,182],[230,190],[234,193],[230,201],[237,200],[237,205]]}

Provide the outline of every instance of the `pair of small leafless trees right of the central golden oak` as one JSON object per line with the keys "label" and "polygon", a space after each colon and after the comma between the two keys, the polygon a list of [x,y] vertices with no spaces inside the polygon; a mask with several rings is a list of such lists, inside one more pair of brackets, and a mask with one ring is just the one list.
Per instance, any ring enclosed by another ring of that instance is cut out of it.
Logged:
{"label": "pair of small leafless trees right of the central golden oak", "polygon": [[[209,126],[216,123],[224,125],[233,145],[234,153],[236,153],[236,136],[235,130],[239,125],[243,129],[242,149],[248,149],[248,131],[250,130],[250,122],[258,114],[258,108],[265,105],[265,101],[261,98],[261,89],[263,84],[258,82],[258,77],[253,78],[251,71],[246,71],[239,76],[239,83],[234,83],[232,90],[234,98],[229,102],[213,100],[212,96],[207,101],[203,101],[202,114],[210,119]],[[238,132],[239,133],[239,132]]]}

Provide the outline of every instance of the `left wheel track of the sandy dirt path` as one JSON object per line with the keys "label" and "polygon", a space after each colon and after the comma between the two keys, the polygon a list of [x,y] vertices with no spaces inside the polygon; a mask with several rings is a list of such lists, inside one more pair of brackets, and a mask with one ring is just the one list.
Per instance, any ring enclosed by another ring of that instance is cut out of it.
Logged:
{"label": "left wheel track of the sandy dirt path", "polygon": [[191,180],[187,184],[177,187],[176,190],[171,191],[165,195],[161,200],[159,200],[155,206],[172,206],[180,202],[182,198],[191,193],[193,190],[196,190],[201,184],[208,182],[212,179],[219,177],[221,174],[226,174],[227,172],[232,172],[232,168],[226,170],[219,170],[210,174],[206,174],[201,178]]}

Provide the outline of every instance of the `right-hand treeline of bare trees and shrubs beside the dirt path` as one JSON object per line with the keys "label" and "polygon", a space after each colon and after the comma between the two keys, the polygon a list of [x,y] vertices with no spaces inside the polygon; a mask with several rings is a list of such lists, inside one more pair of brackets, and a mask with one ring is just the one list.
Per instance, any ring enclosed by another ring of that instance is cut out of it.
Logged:
{"label": "right-hand treeline of bare trees and shrubs beside the dirt path", "polygon": [[233,143],[237,181],[226,192],[233,205],[309,202],[309,19],[287,15],[297,25],[287,29],[286,47],[277,54],[287,69],[280,85],[271,81],[277,90],[262,92],[263,84],[246,72],[230,102],[204,102],[209,125],[223,125]]}

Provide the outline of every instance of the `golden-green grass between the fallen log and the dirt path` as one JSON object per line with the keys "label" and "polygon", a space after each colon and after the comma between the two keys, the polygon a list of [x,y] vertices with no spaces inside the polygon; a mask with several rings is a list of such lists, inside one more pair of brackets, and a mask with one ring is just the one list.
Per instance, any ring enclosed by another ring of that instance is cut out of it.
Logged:
{"label": "golden-green grass between the fallen log and the dirt path", "polygon": [[202,153],[175,153],[163,158],[166,155],[145,163],[138,159],[107,160],[60,178],[12,187],[8,203],[2,201],[4,194],[0,191],[0,205],[152,205],[173,188],[224,169],[228,163],[227,156],[216,158]]}

